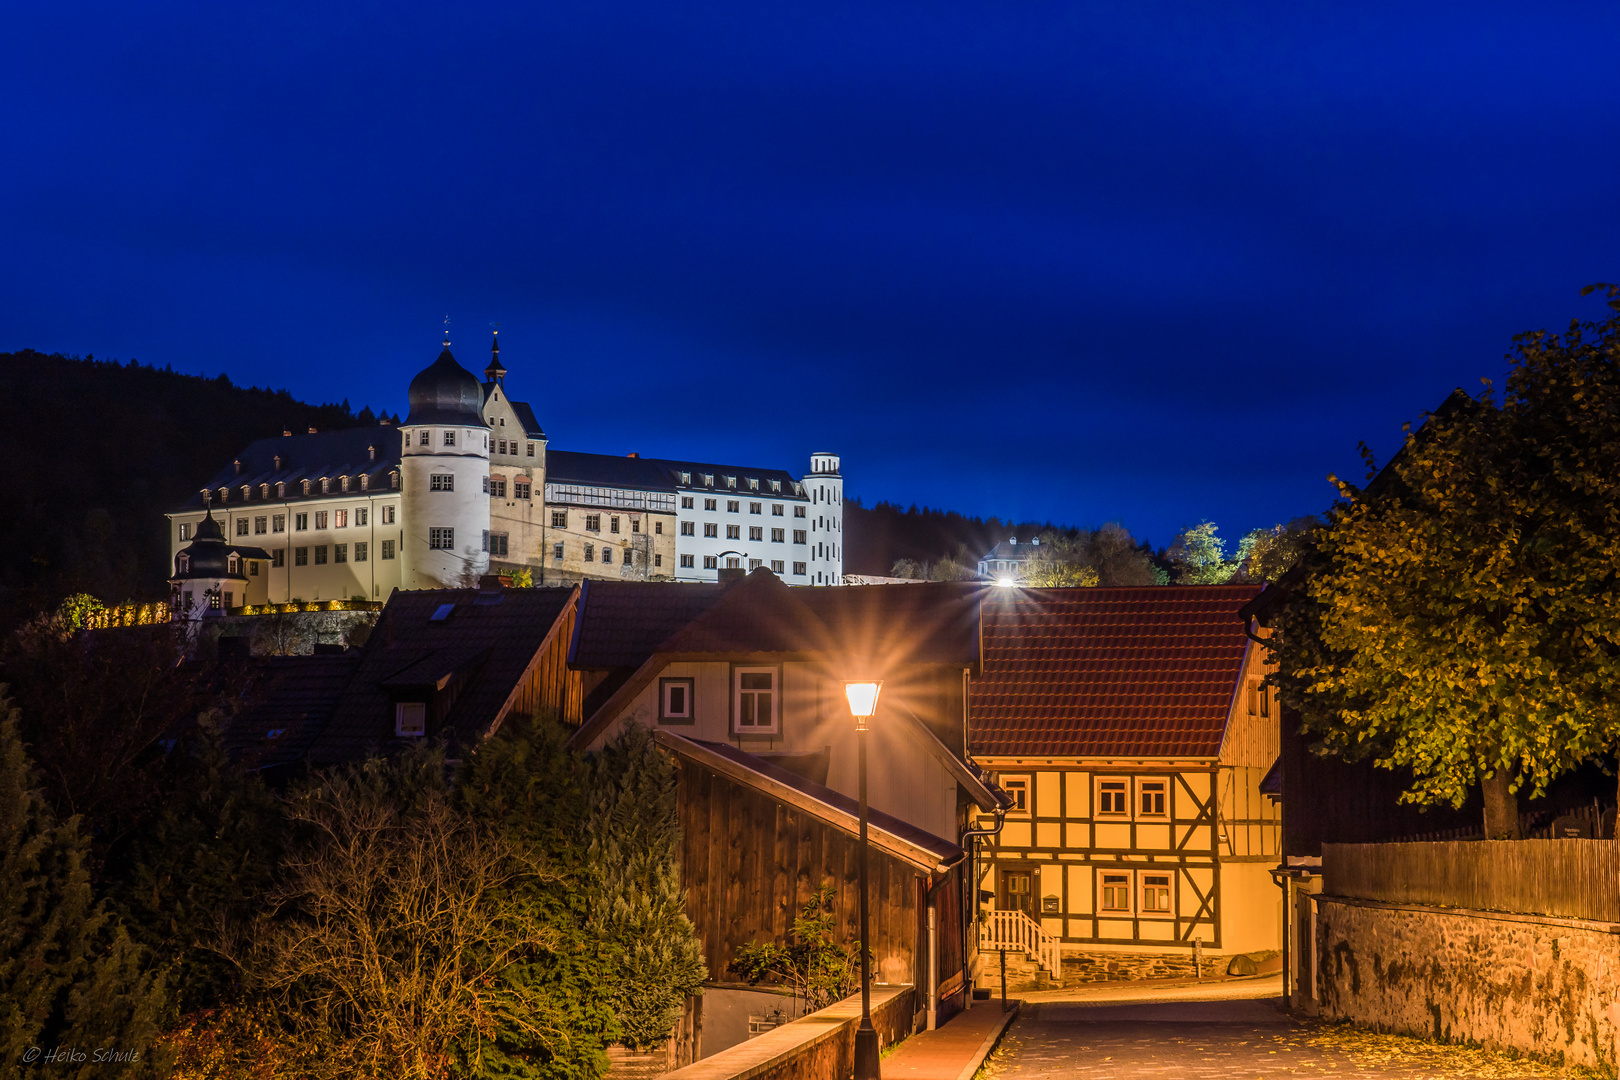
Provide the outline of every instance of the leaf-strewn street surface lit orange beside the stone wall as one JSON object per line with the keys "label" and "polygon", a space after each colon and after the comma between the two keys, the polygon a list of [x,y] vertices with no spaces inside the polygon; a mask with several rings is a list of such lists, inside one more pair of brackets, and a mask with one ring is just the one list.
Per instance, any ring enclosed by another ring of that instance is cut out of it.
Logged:
{"label": "leaf-strewn street surface lit orange beside the stone wall", "polygon": [[980,1080],[1518,1080],[1578,1072],[1476,1048],[1301,1023],[1272,1001],[1032,1002]]}

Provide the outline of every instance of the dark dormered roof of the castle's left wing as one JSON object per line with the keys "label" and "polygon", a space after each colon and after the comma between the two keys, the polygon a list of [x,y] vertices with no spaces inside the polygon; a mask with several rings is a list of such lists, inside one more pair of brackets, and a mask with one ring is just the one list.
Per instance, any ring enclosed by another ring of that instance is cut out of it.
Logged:
{"label": "dark dormered roof of the castle's left wing", "polygon": [[[377,458],[371,460],[371,449],[376,447]],[[280,457],[280,468],[275,458]],[[389,471],[400,463],[400,429],[390,424],[373,427],[343,427],[339,431],[321,431],[313,436],[282,436],[279,439],[258,439],[237,455],[241,471],[235,461],[227,461],[225,468],[214,474],[207,487],[217,492],[228,487],[230,495],[225,505],[241,502],[241,486],[251,484],[254,492],[248,502],[256,502],[259,484],[271,484],[271,497],[275,497],[277,481],[287,483],[287,502],[305,499],[303,481],[319,481],[322,476],[337,479],[339,476],[358,478],[371,476],[369,491],[389,489]],[[313,484],[311,499],[324,499],[321,484]],[[282,499],[275,497],[277,502]],[[193,494],[180,508],[202,508],[202,492]],[[217,505],[217,495],[215,495]]]}

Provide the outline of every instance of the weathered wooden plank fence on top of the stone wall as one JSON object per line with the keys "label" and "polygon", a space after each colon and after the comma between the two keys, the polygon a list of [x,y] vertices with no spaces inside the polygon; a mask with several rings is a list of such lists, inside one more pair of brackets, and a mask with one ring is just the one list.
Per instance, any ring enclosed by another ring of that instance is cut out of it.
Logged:
{"label": "weathered wooden plank fence on top of the stone wall", "polygon": [[1322,891],[1620,923],[1620,840],[1324,844]]}

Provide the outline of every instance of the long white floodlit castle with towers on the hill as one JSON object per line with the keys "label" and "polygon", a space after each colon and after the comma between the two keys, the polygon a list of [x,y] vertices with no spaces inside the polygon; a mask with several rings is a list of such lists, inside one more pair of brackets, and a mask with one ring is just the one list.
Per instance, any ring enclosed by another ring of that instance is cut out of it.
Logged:
{"label": "long white floodlit castle with towers on the hill", "polygon": [[810,471],[548,450],[505,392],[499,342],[480,381],[450,355],[410,382],[400,426],[259,439],[168,513],[181,606],[384,599],[526,567],[583,578],[714,581],[770,568],[839,585],[844,481]]}

